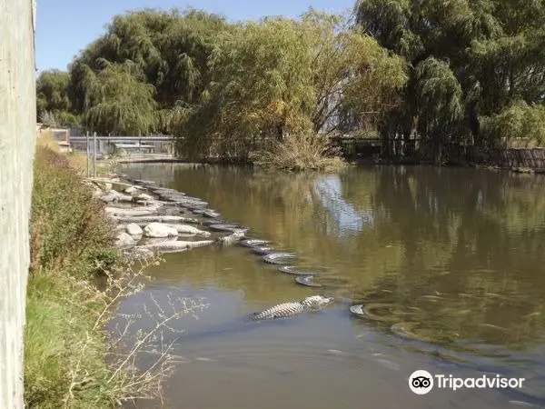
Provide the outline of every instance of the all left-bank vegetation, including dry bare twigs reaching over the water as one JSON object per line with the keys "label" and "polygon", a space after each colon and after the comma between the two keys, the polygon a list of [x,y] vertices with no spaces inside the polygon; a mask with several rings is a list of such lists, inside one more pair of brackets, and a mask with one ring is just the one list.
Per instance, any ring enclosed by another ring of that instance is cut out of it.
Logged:
{"label": "all left-bank vegetation, including dry bare twigs reaching over the water", "polygon": [[[138,358],[173,320],[203,308],[183,299],[174,299],[168,313],[166,306],[156,305],[160,313],[145,318],[144,330],[134,330],[140,312],[114,319],[119,302],[144,289],[149,278],[144,271],[158,260],[135,264],[124,259],[114,248],[114,225],[103,206],[67,155],[37,146],[26,293],[25,407],[109,408],[160,396],[173,369],[168,345],[162,345],[147,369],[137,364]],[[106,331],[113,319],[117,329]]]}

